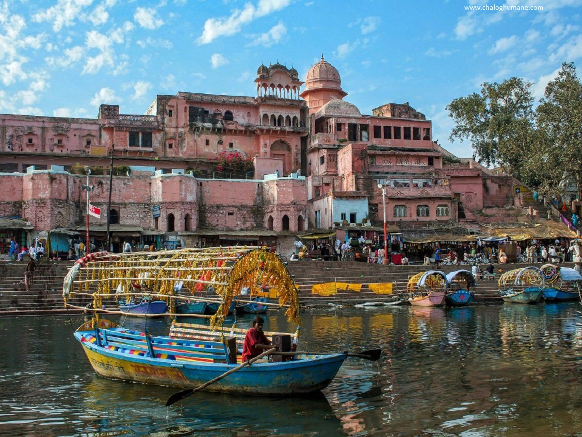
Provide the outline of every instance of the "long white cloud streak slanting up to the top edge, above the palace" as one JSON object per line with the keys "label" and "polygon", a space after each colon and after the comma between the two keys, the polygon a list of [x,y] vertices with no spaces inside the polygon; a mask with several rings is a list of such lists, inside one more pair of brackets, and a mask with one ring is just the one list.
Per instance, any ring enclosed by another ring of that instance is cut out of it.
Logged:
{"label": "long white cloud streak slanting up to the top edge, above the palace", "polygon": [[239,33],[244,24],[249,24],[258,17],[283,9],[290,2],[291,0],[259,0],[256,6],[252,3],[245,3],[243,9],[233,10],[228,17],[209,18],[204,22],[204,30],[196,42],[208,44],[221,36]]}

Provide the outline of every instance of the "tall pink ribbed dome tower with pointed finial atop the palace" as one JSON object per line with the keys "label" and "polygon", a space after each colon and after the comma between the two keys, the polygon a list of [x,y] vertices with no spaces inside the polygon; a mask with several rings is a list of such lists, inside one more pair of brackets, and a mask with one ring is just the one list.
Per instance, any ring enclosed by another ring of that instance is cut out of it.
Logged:
{"label": "tall pink ribbed dome tower with pointed finial atop the palace", "polygon": [[309,108],[309,113],[317,112],[323,105],[334,98],[346,97],[342,90],[342,79],[336,68],[324,60],[311,66],[305,79],[305,89],[301,93]]}

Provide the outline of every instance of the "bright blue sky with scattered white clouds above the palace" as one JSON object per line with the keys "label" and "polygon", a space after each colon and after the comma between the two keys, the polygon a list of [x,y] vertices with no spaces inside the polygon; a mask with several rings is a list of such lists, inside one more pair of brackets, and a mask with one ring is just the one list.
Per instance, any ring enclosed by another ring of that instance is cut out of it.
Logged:
{"label": "bright blue sky with scattered white clouds above the palace", "polygon": [[[468,6],[542,10],[467,10]],[[363,114],[404,103],[450,143],[445,107],[511,76],[539,98],[562,62],[580,68],[582,0],[0,0],[0,112],[143,114],[156,94],[254,96],[261,63],[303,80],[324,54]],[[580,72],[579,72],[580,75]]]}

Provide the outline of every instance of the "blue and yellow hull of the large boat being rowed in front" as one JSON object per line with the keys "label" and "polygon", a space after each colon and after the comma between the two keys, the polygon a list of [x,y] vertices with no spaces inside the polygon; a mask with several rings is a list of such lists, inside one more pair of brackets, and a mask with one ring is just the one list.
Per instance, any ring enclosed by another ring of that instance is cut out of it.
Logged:
{"label": "blue and yellow hull of the large boat being rowed in front", "polygon": [[[236,368],[222,341],[176,340],[119,327],[81,326],[74,333],[95,372],[106,378],[169,387],[196,387]],[[207,387],[223,393],[285,396],[329,385],[347,357],[301,354],[289,361],[255,362]]]}

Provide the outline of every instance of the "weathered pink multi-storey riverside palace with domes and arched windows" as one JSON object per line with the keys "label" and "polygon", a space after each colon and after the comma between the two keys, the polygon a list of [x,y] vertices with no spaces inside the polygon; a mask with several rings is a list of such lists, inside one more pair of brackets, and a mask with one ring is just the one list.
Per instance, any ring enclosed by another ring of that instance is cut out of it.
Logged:
{"label": "weathered pink multi-storey riverside palace with domes and arched windows", "polygon": [[[107,240],[109,216],[114,249],[129,240],[290,253],[300,238],[381,239],[384,218],[393,235],[471,228],[476,213],[513,203],[519,182],[440,147],[408,103],[361,114],[323,57],[305,82],[281,64],[261,65],[254,82],[255,97],[158,95],[145,115],[113,104],[95,119],[0,115],[0,252],[8,238],[22,245],[49,231],[59,251],[84,239],[85,166],[102,212],[91,237]],[[217,168],[228,153],[254,171]]]}

